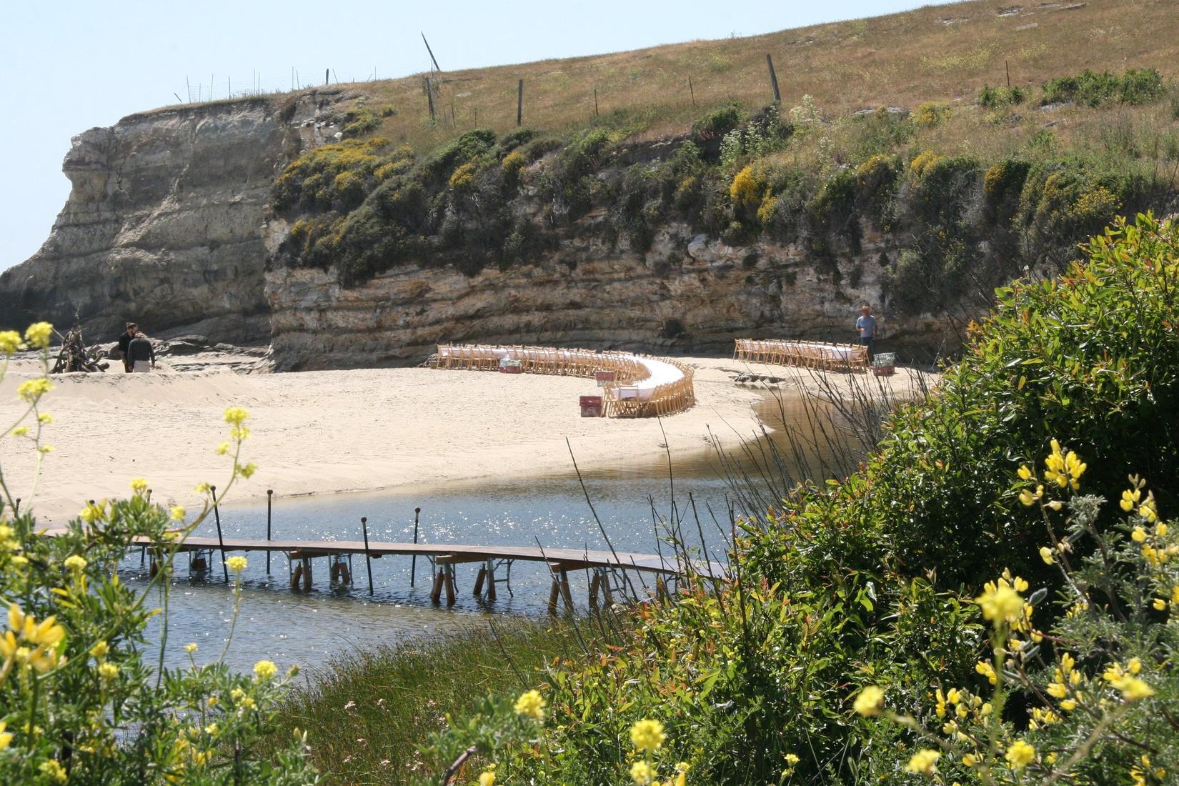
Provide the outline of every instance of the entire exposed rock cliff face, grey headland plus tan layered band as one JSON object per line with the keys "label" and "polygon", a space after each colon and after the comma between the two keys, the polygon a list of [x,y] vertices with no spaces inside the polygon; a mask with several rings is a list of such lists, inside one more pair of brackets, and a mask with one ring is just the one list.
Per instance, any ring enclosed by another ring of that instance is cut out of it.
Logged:
{"label": "entire exposed rock cliff face, grey headland plus tan layered band", "polygon": [[[881,302],[870,236],[826,269],[793,246],[727,246],[674,223],[637,253],[606,240],[600,213],[531,264],[474,276],[442,258],[353,288],[331,267],[268,270],[290,231],[268,209],[271,183],[301,151],[338,139],[331,106],[347,98],[178,107],[74,138],[73,190],[50,238],[0,275],[0,326],[77,313],[94,339],[127,319],[152,335],[270,338],[275,366],[294,370],[416,363],[439,342],[667,352],[727,352],[737,336],[845,342],[858,304]],[[929,318],[884,325],[930,355],[948,333]]]}

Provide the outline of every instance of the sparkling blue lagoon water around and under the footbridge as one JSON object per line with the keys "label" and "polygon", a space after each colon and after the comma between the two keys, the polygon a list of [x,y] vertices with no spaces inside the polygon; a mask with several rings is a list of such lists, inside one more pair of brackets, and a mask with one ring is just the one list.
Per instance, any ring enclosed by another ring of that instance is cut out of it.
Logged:
{"label": "sparkling blue lagoon water around and under the footbridge", "polygon": [[[759,412],[766,423],[780,421],[783,414],[790,420],[805,421],[806,408],[802,401],[784,399],[779,404],[769,398]],[[771,443],[783,448],[777,461],[766,453]],[[584,486],[571,461],[568,467],[554,468],[548,477],[473,481],[446,488],[329,497],[299,497],[296,489],[276,488],[272,535],[361,540],[361,516],[365,516],[370,541],[407,542],[414,537],[414,508],[420,507],[419,540],[423,543],[539,543],[553,548],[608,549],[608,537],[620,551],[657,553],[670,548],[663,540],[670,537],[667,522],[679,521],[679,536],[690,549],[702,556],[706,550],[711,559],[724,561],[730,506],[739,514],[747,507],[770,504],[790,483],[783,470],[790,478],[817,477],[834,473],[835,464],[843,463],[837,458],[847,458],[835,455],[841,450],[829,444],[798,455],[789,449],[790,443],[778,431],[769,438],[751,441],[745,455],[723,460],[716,453],[702,450],[693,456],[672,456],[671,473],[667,460],[638,462],[586,473]],[[749,482],[735,484],[733,476],[743,473]],[[749,488],[757,489],[759,498],[742,493]],[[248,482],[235,491],[231,502],[220,509],[224,536],[265,537],[265,488]],[[216,536],[212,516],[198,534]],[[225,652],[226,663],[241,671],[248,671],[262,658],[274,660],[281,668],[298,663],[317,669],[351,649],[487,625],[486,617],[493,613],[544,615],[551,581],[542,563],[515,562],[511,574],[514,594],[509,595],[500,584],[498,600],[486,602],[472,594],[479,564],[460,564],[456,566],[457,602],[448,608],[444,601],[442,606],[430,603],[430,564],[422,557],[416,562],[413,587],[410,557],[373,560],[369,595],[363,555],[353,559],[354,583],[343,589],[329,587],[328,561],[315,560],[315,584],[308,594],[290,590],[284,555],[271,556],[269,576],[264,554],[248,556],[241,614]],[[138,553],[124,562],[123,573],[129,581],[143,584],[147,581]],[[498,576],[503,576],[502,570]],[[639,574],[631,576],[641,593]],[[651,576],[644,579],[650,584]],[[571,584],[574,602],[586,608],[587,576],[571,573]],[[190,641],[198,645],[197,662],[216,660],[225,646],[233,607],[219,556],[213,555],[211,570],[190,576],[186,560],[180,555],[169,592],[165,663],[186,663],[189,655],[183,647]],[[163,623],[162,617],[157,620]],[[159,625],[154,627],[154,636],[159,635]]]}

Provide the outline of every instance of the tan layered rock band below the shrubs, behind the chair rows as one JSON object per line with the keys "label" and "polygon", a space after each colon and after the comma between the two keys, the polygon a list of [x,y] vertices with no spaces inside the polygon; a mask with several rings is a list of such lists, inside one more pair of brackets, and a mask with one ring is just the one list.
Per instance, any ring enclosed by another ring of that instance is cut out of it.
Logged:
{"label": "tan layered rock band below the shrubs, behind the chair rows", "polygon": [[[276,224],[271,243],[285,230]],[[416,363],[439,342],[467,341],[722,354],[738,336],[851,342],[859,304],[880,297],[883,269],[871,239],[862,255],[819,273],[798,249],[735,247],[689,232],[666,227],[641,257],[581,232],[535,265],[473,277],[406,265],[351,289],[334,270],[268,270],[275,365]],[[926,348],[949,329],[930,318],[883,324],[894,344]]]}

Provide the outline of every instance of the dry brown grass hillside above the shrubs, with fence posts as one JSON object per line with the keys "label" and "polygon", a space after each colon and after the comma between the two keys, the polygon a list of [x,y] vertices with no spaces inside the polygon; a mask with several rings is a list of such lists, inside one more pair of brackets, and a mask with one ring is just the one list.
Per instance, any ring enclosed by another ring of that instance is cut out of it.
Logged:
{"label": "dry brown grass hillside above the shrubs, with fence posts", "polygon": [[552,132],[585,125],[594,115],[597,88],[602,114],[626,112],[653,137],[683,130],[730,100],[749,108],[770,103],[766,53],[773,55],[783,103],[810,94],[828,114],[973,100],[983,84],[1006,82],[1005,61],[1012,84],[1034,87],[1034,95],[1046,79],[1085,68],[1154,67],[1173,78],[1179,73],[1174,11],[1173,0],[975,0],[751,38],[446,72],[435,124],[422,74],[357,86],[370,97],[369,106],[396,110],[374,133],[421,152],[476,126],[513,127],[518,79],[525,80],[525,125]]}

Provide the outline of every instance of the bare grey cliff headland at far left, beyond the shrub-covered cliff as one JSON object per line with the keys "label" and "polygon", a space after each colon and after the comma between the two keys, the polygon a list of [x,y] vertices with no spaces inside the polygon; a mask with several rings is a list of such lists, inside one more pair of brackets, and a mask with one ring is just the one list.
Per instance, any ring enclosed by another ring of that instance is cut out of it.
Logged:
{"label": "bare grey cliff headland at far left, beyond the shrub-covered cliff", "polygon": [[0,275],[0,326],[77,313],[95,339],[134,321],[152,335],[266,341],[263,209],[275,176],[315,141],[303,123],[330,100],[186,106],[74,137],[62,164],[73,189],[50,238]]}

